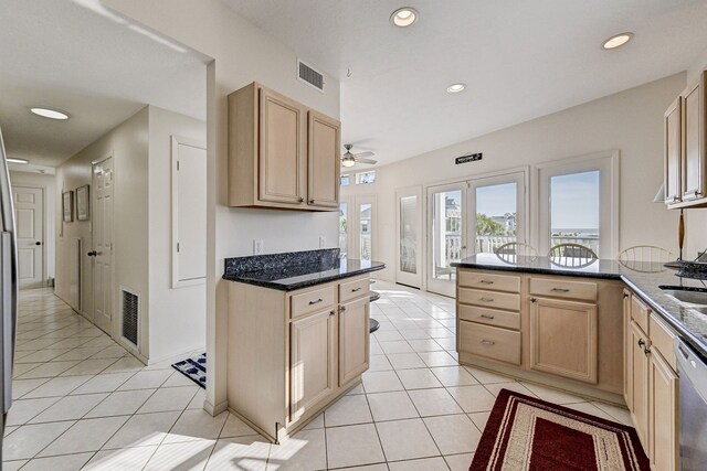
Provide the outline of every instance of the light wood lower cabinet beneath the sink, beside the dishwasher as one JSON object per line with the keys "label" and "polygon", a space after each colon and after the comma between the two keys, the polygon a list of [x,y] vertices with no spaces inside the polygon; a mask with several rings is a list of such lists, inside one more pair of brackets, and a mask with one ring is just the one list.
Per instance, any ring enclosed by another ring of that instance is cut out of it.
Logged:
{"label": "light wood lower cabinet beneath the sink, beside the dishwasher", "polygon": [[[679,469],[678,377],[673,347],[675,332],[629,293],[626,332],[626,405],[643,449],[655,471]],[[646,330],[642,329],[642,325]]]}

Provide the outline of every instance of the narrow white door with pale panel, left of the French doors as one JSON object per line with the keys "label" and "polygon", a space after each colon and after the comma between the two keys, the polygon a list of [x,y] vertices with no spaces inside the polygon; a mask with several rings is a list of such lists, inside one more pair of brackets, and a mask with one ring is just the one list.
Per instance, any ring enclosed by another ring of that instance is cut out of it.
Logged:
{"label": "narrow white door with pale panel, left of the French doors", "polygon": [[395,282],[422,286],[422,186],[395,192],[397,238]]}

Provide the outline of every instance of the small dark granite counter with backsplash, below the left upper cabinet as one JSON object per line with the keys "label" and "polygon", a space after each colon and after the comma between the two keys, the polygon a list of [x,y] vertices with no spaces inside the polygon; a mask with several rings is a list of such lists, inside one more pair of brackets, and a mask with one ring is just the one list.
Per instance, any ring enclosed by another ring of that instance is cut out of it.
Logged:
{"label": "small dark granite counter with backsplash, below the left upper cabinet", "polygon": [[330,248],[226,258],[223,279],[292,291],[384,267],[380,261],[339,258],[339,249]]}

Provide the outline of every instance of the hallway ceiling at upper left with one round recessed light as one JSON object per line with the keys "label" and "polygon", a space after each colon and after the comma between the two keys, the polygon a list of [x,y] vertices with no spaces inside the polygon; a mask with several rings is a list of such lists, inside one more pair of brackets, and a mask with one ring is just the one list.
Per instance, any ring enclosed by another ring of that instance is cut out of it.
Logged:
{"label": "hallway ceiling at upper left with one round recessed light", "polygon": [[[2,0],[0,127],[10,157],[55,167],[146,104],[205,119],[202,57],[86,6],[102,10],[97,0]],[[72,117],[40,118],[33,105]]]}

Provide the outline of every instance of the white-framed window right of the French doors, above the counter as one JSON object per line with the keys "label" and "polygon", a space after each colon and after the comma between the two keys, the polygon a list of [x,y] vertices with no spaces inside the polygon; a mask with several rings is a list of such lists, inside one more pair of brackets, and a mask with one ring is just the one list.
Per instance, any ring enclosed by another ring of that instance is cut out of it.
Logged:
{"label": "white-framed window right of the French doors, above the counter", "polygon": [[537,246],[579,244],[599,258],[619,248],[619,152],[602,152],[538,165]]}

